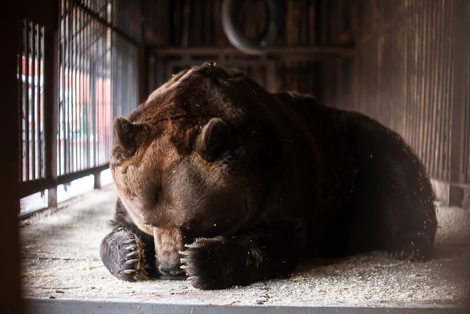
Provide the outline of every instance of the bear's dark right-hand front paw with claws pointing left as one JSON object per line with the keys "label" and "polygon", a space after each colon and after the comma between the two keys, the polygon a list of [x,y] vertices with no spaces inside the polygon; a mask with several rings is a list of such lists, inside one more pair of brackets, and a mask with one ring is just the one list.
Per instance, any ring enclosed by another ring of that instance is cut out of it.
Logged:
{"label": "bear's dark right-hand front paw with claws pointing left", "polygon": [[188,280],[195,288],[214,290],[225,289],[246,282],[250,263],[247,257],[240,256],[241,249],[230,239],[216,237],[200,238],[188,249],[180,252],[183,255],[182,269],[188,274]]}

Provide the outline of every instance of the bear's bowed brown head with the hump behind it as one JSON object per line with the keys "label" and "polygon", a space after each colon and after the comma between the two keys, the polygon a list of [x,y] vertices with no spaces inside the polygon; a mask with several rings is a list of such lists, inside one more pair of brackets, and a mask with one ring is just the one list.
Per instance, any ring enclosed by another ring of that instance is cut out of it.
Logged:
{"label": "bear's bowed brown head with the hump behind it", "polygon": [[269,95],[241,72],[207,64],[115,120],[118,197],[154,236],[161,273],[179,273],[184,244],[233,236],[257,214],[269,164],[259,102]]}

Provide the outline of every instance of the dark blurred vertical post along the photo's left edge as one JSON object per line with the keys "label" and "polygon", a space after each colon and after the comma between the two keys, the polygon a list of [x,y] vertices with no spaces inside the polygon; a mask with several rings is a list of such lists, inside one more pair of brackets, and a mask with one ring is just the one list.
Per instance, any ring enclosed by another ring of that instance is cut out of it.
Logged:
{"label": "dark blurred vertical post along the photo's left edge", "polygon": [[[20,254],[18,237],[18,212],[20,199],[18,197],[18,169],[20,167],[20,141],[17,132],[20,123],[18,115],[18,79],[17,60],[20,34],[20,7],[12,2],[8,10],[0,14],[1,38],[5,45],[2,48],[3,61],[0,63],[2,116],[0,123],[0,147],[2,156],[0,167],[0,197],[2,210],[2,227],[0,237],[8,239],[3,248],[9,253],[8,259],[0,259],[1,269],[8,269],[2,277],[2,283],[8,283],[8,289],[0,293],[0,308],[2,313],[22,313],[23,303],[20,300]],[[7,44],[6,44],[7,43]]]}

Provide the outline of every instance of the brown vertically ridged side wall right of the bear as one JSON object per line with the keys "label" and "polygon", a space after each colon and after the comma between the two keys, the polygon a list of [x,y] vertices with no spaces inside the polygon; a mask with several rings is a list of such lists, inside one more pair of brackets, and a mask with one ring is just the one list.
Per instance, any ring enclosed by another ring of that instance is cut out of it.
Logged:
{"label": "brown vertically ridged side wall right of the bear", "polygon": [[349,108],[398,131],[441,198],[468,202],[470,1],[358,0],[354,12]]}

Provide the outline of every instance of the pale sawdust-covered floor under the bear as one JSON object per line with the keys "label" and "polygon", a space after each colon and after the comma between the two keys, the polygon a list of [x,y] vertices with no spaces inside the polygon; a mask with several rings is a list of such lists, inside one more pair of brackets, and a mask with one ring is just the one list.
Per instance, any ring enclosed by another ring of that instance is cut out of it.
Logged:
{"label": "pale sawdust-covered floor under the bear", "polygon": [[[202,291],[188,281],[129,283],[99,258],[116,192],[88,193],[21,223],[23,294],[31,313],[470,313],[470,210],[438,206],[434,258],[408,263],[372,252],[305,261],[286,280]],[[72,302],[73,301],[73,302]],[[70,311],[69,311],[70,310]],[[238,311],[238,312],[237,312]],[[385,312],[386,311],[386,312]]]}

